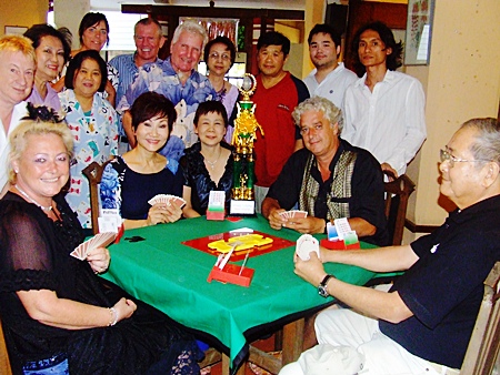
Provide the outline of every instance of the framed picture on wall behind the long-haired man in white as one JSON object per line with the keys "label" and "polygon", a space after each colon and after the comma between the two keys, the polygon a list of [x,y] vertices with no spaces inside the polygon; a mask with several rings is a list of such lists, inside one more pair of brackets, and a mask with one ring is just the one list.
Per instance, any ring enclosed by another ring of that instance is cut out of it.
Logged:
{"label": "framed picture on wall behind the long-haired man in white", "polygon": [[404,64],[429,64],[436,0],[408,0]]}

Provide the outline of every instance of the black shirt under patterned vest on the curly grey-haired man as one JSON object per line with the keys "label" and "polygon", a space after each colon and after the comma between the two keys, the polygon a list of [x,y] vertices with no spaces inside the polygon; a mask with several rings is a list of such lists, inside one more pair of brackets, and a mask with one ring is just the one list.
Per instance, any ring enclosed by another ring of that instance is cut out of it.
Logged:
{"label": "black shirt under patterned vest on the curly grey-haired man", "polygon": [[[377,245],[387,245],[389,239],[386,230],[382,170],[379,162],[368,151],[356,148],[344,140],[340,140],[339,149],[330,163],[332,173],[327,181],[322,181],[317,164],[311,169],[311,176],[319,183],[314,216],[327,220],[327,196],[331,192],[334,166],[343,150],[358,154],[351,180],[351,197],[347,199],[350,217],[361,217],[377,227],[374,235],[360,240]],[[307,149],[294,152],[284,164],[278,180],[269,189],[267,196],[276,199],[284,210],[290,210],[299,201],[303,172],[310,154],[311,152]],[[344,201],[342,199],[341,202]]]}

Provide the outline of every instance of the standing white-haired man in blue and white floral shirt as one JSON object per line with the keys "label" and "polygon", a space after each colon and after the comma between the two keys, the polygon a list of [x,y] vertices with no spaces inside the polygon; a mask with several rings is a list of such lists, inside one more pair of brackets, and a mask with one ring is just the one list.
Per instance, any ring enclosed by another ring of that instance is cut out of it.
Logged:
{"label": "standing white-haired man in blue and white floral shirt", "polygon": [[[176,105],[178,120],[160,153],[176,160],[180,159],[184,146],[191,146],[198,140],[192,123],[198,104],[216,98],[209,79],[194,70],[207,41],[207,32],[202,26],[193,21],[181,23],[173,33],[170,57],[141,67],[139,75],[118,105],[119,111],[126,111],[147,91],[167,97]],[[128,111],[123,113],[122,120],[127,138],[133,148],[136,139]]]}

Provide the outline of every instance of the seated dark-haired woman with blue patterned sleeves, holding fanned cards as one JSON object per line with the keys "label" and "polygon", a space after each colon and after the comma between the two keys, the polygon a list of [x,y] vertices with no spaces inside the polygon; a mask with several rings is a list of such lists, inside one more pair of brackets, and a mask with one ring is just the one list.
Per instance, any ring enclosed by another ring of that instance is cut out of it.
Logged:
{"label": "seated dark-haired woman with blue patterned sleeves, holding fanned cards", "polygon": [[100,195],[103,209],[118,209],[124,227],[173,223],[182,211],[178,206],[148,201],[157,194],[182,195],[179,163],[158,153],[170,136],[177,119],[170,100],[144,92],[130,109],[136,146],[109,163],[102,173]]}

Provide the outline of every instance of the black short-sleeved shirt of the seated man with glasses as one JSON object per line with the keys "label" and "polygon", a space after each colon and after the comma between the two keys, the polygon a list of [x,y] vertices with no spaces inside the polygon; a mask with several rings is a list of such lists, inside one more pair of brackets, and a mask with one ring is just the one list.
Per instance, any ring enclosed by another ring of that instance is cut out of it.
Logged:
{"label": "black short-sleeved shirt of the seated man with glasses", "polygon": [[500,260],[500,195],[450,213],[411,244],[419,260],[392,287],[414,314],[380,330],[410,353],[460,368],[484,293]]}

